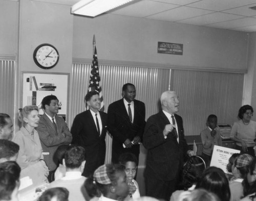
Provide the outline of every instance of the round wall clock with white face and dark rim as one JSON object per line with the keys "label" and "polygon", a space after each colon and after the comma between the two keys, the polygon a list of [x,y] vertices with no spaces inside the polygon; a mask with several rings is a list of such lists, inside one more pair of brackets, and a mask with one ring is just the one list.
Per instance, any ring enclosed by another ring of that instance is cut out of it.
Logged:
{"label": "round wall clock with white face and dark rim", "polygon": [[53,45],[45,43],[36,47],[33,59],[40,68],[50,69],[58,63],[59,54]]}

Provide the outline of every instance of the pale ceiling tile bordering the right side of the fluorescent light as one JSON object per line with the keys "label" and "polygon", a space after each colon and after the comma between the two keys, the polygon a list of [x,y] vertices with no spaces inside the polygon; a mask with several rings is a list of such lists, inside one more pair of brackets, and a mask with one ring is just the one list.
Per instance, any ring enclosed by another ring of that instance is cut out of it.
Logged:
{"label": "pale ceiling tile bordering the right side of the fluorescent light", "polygon": [[166,4],[154,1],[140,1],[138,3],[126,6],[116,11],[110,12],[112,14],[120,14],[133,17],[146,17],[148,15],[153,15],[162,11],[177,8],[179,5]]}

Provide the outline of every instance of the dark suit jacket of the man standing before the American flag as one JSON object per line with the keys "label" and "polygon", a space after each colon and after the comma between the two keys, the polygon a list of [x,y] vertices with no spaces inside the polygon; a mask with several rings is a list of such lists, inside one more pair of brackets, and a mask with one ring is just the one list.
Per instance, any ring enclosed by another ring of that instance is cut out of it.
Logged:
{"label": "dark suit jacket of the man standing before the American flag", "polygon": [[92,174],[105,161],[107,114],[101,111],[99,111],[99,114],[102,122],[100,136],[90,110],[76,115],[71,128],[73,136],[72,144],[80,145],[86,149],[86,165],[83,171],[85,177]]}

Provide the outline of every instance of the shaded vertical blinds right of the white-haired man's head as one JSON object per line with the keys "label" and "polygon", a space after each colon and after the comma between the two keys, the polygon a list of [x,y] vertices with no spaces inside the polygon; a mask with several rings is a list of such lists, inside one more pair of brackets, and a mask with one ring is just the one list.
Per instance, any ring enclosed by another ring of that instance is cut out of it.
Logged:
{"label": "shaded vertical blinds right of the white-haired man's head", "polygon": [[210,114],[232,125],[242,105],[244,74],[173,70],[171,90],[180,99],[185,135],[199,135]]}

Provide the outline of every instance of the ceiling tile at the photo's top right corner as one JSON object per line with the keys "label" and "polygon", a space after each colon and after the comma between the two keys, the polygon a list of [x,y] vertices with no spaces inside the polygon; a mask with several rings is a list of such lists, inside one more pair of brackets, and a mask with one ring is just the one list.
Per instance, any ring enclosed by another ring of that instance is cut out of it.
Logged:
{"label": "ceiling tile at the photo's top right corner", "polygon": [[203,0],[189,6],[194,8],[208,9],[212,11],[222,11],[249,4],[255,4],[255,0]]}

